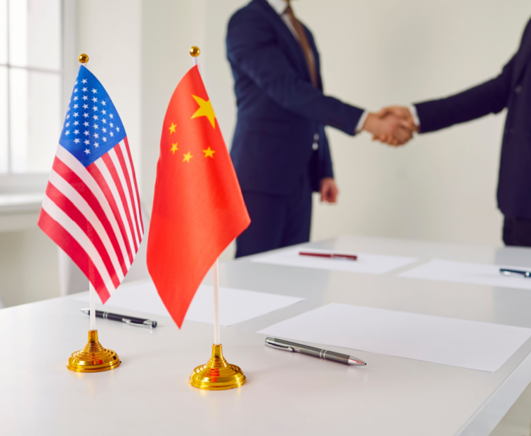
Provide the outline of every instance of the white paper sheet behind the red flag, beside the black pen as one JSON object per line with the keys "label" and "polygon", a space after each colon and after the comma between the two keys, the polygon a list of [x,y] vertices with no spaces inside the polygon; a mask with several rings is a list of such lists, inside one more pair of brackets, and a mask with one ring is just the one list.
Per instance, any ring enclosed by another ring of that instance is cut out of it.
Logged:
{"label": "white paper sheet behind the red flag, beside the black pen", "polygon": [[[265,315],[291,304],[303,301],[305,298],[266,294],[264,292],[244,291],[243,289],[219,289],[219,318],[220,325],[228,327],[243,321]],[[79,301],[89,302],[89,296],[77,298]],[[101,303],[99,298],[97,302]],[[164,303],[157,294],[155,285],[150,282],[133,284],[119,288],[108,299],[105,306],[97,305],[98,310],[112,312],[112,309],[127,309],[151,313],[152,315],[169,316]],[[214,323],[213,287],[201,285],[191,302],[185,320],[199,323]]]}

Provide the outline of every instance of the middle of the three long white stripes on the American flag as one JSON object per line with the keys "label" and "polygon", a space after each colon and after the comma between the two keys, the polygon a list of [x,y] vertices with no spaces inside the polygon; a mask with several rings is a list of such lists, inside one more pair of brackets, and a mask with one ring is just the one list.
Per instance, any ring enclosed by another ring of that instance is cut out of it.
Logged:
{"label": "middle of the three long white stripes on the American flag", "polygon": [[89,206],[89,203],[86,202],[86,200],[77,192],[71,184],[69,184],[65,179],[63,179],[57,172],[55,172],[52,169],[52,172],[50,173],[50,179],[49,182],[57,188],[58,191],[60,191],[67,199],[72,201],[74,203],[74,206],[76,206],[79,211],[83,214],[83,216],[89,220],[89,223],[91,223],[92,227],[94,227],[94,230],[96,230],[96,233],[101,239],[101,242],[103,242],[105,250],[108,252],[109,257],[111,258],[111,262],[113,264],[114,271],[116,272],[116,275],[118,276],[118,280],[121,282],[123,280],[123,272],[122,268],[120,266],[120,262],[118,261],[118,256],[116,256],[116,252],[114,251],[113,244],[111,243],[111,240],[109,239],[107,232],[104,228],[104,225],[101,224],[101,221],[99,220],[98,216],[92,208]]}

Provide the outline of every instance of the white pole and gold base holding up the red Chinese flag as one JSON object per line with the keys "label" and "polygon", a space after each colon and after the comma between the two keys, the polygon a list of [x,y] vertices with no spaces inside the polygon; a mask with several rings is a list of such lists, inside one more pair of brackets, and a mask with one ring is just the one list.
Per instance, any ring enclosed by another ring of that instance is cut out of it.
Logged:
{"label": "white pole and gold base holding up the red Chinese flag", "polygon": [[[199,49],[198,49],[199,50]],[[205,364],[196,367],[190,376],[190,384],[194,388],[206,391],[222,391],[242,386],[245,383],[245,375],[240,367],[228,364],[223,357],[220,342],[220,326],[218,317],[218,259],[213,266],[214,275],[214,344],[212,345],[212,357]]]}

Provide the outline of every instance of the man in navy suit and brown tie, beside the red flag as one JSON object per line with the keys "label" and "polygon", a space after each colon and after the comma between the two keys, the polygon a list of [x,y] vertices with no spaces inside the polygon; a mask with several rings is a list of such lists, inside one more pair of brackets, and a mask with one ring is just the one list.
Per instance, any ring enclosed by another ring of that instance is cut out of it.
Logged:
{"label": "man in navy suit and brown tie, beside the red flag", "polygon": [[307,242],[312,191],[330,203],[338,193],[324,126],[386,134],[393,145],[410,130],[323,94],[313,35],[289,0],[252,0],[237,11],[227,56],[238,109],[230,156],[251,217],[236,257]]}

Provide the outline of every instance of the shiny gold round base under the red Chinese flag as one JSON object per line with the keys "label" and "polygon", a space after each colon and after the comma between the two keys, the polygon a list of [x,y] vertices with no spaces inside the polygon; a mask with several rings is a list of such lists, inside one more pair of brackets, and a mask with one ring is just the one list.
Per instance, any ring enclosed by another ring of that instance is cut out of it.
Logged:
{"label": "shiny gold round base under the red Chinese flag", "polygon": [[244,383],[243,371],[236,365],[227,363],[221,345],[212,345],[212,357],[208,363],[196,367],[190,376],[191,386],[206,391],[239,388]]}

